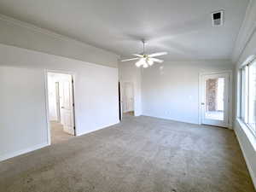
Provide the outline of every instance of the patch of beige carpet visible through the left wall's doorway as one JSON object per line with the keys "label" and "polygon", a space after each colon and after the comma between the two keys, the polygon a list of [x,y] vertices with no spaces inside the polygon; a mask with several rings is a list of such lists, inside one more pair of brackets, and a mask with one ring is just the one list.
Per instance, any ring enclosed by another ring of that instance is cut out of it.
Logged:
{"label": "patch of beige carpet visible through the left wall's doorway", "polygon": [[61,143],[73,138],[72,135],[63,131],[63,125],[56,121],[50,122],[50,140],[51,144]]}

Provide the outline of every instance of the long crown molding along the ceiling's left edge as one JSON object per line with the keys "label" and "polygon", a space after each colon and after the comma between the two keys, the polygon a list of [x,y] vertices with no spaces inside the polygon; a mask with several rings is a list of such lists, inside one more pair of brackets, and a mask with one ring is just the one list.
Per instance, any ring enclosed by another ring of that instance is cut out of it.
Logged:
{"label": "long crown molding along the ceiling's left edge", "polygon": [[117,55],[116,53],[113,53],[109,50],[102,49],[102,48],[97,48],[94,45],[87,44],[87,43],[79,41],[75,38],[69,38],[69,37],[61,35],[59,33],[52,32],[52,31],[49,31],[47,29],[44,29],[42,27],[32,25],[32,24],[27,23],[25,21],[16,20],[15,18],[9,17],[7,15],[0,14],[0,20],[3,20],[3,21],[5,21],[5,22],[7,22],[7,23],[9,23],[10,25],[13,25],[13,26],[20,26],[20,27],[26,28],[26,29],[28,29],[32,32],[38,32],[38,33],[47,35],[51,38],[55,38],[55,39],[62,40],[62,41],[67,41],[67,42],[70,42],[70,43],[73,43],[73,44],[80,44],[84,47],[91,47],[93,49],[98,49],[98,50],[101,50],[101,51],[104,51],[104,52],[108,52],[109,54],[112,54],[112,55],[116,56],[117,58],[119,58],[119,55]]}

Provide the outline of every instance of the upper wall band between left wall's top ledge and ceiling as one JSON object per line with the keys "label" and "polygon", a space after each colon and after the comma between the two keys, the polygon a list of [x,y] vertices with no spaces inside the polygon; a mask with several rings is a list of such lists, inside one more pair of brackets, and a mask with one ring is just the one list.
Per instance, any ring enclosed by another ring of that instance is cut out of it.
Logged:
{"label": "upper wall band between left wall's top ledge and ceiling", "polygon": [[118,55],[20,20],[0,15],[0,29],[0,44],[14,45],[110,67],[118,66]]}

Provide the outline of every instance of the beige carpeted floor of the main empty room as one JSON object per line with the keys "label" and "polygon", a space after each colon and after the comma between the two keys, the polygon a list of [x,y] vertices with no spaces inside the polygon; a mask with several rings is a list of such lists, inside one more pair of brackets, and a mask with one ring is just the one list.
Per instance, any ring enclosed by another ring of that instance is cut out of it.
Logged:
{"label": "beige carpeted floor of the main empty room", "polygon": [[253,192],[233,131],[149,117],[0,163],[1,192]]}

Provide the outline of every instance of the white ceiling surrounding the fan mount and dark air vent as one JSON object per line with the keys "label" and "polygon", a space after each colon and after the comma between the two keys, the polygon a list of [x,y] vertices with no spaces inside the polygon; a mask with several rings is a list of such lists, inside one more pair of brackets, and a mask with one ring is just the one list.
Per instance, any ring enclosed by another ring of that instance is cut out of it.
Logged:
{"label": "white ceiling surrounding the fan mount and dark air vent", "polygon": [[[168,51],[169,61],[230,59],[249,0],[0,0],[0,13],[123,57]],[[224,9],[224,26],[211,12]]]}

